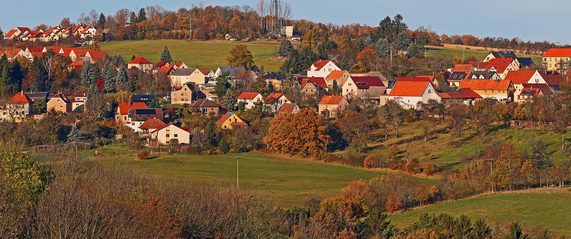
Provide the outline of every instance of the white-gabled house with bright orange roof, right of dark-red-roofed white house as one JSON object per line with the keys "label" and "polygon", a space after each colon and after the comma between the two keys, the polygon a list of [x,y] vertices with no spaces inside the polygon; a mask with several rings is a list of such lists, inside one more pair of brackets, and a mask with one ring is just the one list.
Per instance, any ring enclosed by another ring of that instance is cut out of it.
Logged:
{"label": "white-gabled house with bright orange roof, right of dark-red-roofed white house", "polygon": [[400,104],[406,108],[416,109],[417,102],[427,103],[429,99],[440,100],[431,82],[397,81],[388,95],[389,100],[400,98]]}

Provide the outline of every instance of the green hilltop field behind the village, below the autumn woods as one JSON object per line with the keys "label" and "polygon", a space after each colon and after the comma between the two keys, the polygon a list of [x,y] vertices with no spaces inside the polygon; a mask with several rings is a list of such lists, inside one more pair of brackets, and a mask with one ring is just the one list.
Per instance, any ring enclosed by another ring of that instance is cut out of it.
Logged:
{"label": "green hilltop field behind the village, below the autumn woods", "polygon": [[226,40],[192,41],[184,40],[129,40],[109,42],[100,45],[101,50],[113,55],[121,54],[126,62],[131,56],[144,56],[152,63],[159,61],[164,46],[171,52],[172,60],[183,61],[188,67],[211,68],[226,67],[226,57],[236,44],[246,44],[252,52],[258,67],[264,66],[264,71],[279,71],[281,61],[273,60],[274,52],[279,47],[278,42],[247,42],[236,43]]}

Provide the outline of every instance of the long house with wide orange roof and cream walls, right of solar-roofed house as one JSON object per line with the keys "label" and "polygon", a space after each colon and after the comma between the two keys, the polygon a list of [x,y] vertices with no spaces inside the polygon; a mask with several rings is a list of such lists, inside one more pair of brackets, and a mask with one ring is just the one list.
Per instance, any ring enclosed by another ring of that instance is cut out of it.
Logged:
{"label": "long house with wide orange roof and cream walls, right of solar-roofed house", "polygon": [[470,88],[480,94],[482,98],[496,98],[498,101],[506,101],[509,98],[513,100],[513,87],[510,80],[463,80],[460,88]]}

